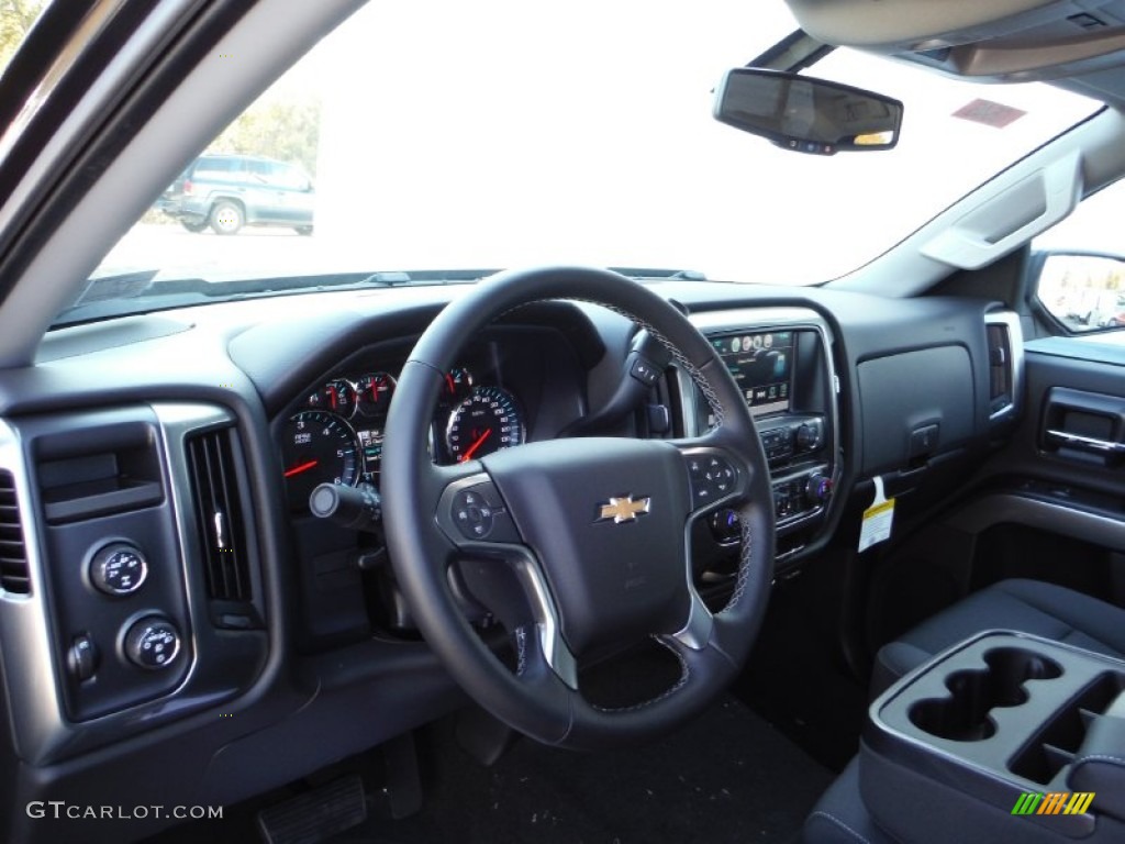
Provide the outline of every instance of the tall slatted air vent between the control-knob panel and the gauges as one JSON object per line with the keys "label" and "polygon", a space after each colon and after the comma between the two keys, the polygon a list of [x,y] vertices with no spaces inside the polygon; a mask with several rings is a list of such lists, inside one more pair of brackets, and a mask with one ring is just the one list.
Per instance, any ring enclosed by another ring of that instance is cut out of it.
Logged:
{"label": "tall slatted air vent between the control-knob panel and the gauges", "polygon": [[207,592],[216,601],[249,602],[253,594],[235,431],[197,434],[188,439],[187,450]]}

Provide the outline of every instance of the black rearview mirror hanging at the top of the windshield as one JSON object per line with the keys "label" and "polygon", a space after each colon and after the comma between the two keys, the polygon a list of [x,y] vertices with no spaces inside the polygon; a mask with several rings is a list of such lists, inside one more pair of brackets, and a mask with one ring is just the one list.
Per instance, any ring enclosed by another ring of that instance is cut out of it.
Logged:
{"label": "black rearview mirror hanging at the top of the windshield", "polygon": [[716,89],[714,118],[785,150],[835,155],[893,147],[902,104],[798,73],[735,68]]}

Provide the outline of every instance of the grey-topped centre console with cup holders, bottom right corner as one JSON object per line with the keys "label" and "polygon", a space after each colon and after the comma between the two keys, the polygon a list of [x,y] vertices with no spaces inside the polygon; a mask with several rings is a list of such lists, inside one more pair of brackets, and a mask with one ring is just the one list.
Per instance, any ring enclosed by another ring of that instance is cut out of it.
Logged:
{"label": "grey-topped centre console with cup holders, bottom right corner", "polygon": [[1125,841],[1125,663],[987,631],[872,704],[864,803],[909,842]]}

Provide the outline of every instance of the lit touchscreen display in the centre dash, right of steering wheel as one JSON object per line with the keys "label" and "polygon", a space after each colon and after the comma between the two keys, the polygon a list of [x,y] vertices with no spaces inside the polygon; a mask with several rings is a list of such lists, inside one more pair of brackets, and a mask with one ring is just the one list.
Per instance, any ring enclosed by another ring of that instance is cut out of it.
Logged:
{"label": "lit touchscreen display in the centre dash, right of steering wheel", "polygon": [[793,336],[792,331],[771,331],[711,338],[755,416],[790,410]]}

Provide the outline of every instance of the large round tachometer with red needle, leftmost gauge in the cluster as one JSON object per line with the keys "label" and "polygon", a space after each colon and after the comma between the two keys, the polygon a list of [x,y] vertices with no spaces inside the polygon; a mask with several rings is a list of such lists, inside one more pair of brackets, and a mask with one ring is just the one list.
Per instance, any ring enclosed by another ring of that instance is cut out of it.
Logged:
{"label": "large round tachometer with red needle, leftmost gauge in the cluster", "polygon": [[292,508],[307,505],[318,484],[354,486],[362,470],[356,432],[326,411],[304,411],[286,423],[281,459]]}

